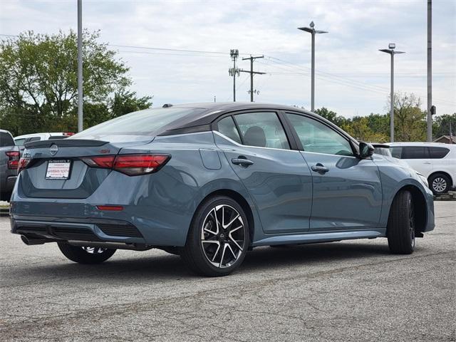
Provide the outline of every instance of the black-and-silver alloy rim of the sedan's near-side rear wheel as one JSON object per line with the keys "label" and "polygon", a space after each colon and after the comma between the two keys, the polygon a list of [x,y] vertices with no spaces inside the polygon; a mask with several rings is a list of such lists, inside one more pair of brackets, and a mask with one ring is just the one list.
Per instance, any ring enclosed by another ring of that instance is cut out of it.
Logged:
{"label": "black-and-silver alloy rim of the sedan's near-side rear wheel", "polygon": [[245,234],[239,212],[227,204],[217,205],[202,224],[201,244],[205,257],[221,269],[232,266],[244,251]]}

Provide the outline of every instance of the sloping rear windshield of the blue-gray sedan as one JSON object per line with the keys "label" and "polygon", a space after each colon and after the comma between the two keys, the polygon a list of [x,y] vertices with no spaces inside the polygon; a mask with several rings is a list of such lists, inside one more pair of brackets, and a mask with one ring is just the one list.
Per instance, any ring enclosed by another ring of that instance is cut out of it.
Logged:
{"label": "sloping rear windshield of the blue-gray sedan", "polygon": [[186,115],[202,113],[203,111],[204,109],[202,108],[157,108],[140,110],[100,123],[73,135],[71,138],[84,138],[86,135],[105,134],[150,135]]}

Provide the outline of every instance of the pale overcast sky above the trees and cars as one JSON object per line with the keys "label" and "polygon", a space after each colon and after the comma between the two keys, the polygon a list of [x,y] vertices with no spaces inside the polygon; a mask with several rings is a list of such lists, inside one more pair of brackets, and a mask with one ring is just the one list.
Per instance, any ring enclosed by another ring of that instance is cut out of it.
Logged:
{"label": "pale overcast sky above the trees and cars", "polygon": [[[329,31],[316,36],[316,108],[346,117],[388,111],[390,57],[378,49],[393,42],[406,51],[395,56],[395,89],[419,95],[425,108],[426,15],[426,0],[83,0],[84,28],[101,30],[130,67],[133,90],[154,105],[231,101],[229,50],[237,48],[240,57],[265,56],[254,63],[266,72],[254,78],[257,102],[310,109],[311,35],[296,28],[314,21]],[[76,0],[0,0],[0,34],[76,27]],[[433,1],[432,32],[433,103],[438,114],[455,113],[455,0]],[[248,101],[248,74],[236,81],[237,100]]]}

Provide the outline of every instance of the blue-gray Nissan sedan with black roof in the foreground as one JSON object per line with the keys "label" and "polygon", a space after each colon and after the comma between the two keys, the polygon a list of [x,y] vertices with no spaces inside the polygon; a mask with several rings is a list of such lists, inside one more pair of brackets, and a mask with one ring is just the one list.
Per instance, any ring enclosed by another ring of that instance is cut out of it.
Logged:
{"label": "blue-gray Nissan sedan with black roof in the foreground", "polygon": [[386,237],[410,254],[434,229],[415,171],[283,105],[141,110],[30,142],[19,164],[11,232],[83,264],[158,248],[222,276],[257,246]]}

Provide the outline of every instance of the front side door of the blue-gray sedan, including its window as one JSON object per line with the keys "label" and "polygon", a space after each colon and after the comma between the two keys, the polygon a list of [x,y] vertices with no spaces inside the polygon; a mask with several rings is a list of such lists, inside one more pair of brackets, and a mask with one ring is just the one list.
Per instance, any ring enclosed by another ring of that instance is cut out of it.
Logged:
{"label": "front side door of the blue-gray sedan, including its window", "polygon": [[313,116],[286,113],[311,168],[311,231],[378,227],[382,187],[373,160],[361,160],[348,137]]}

